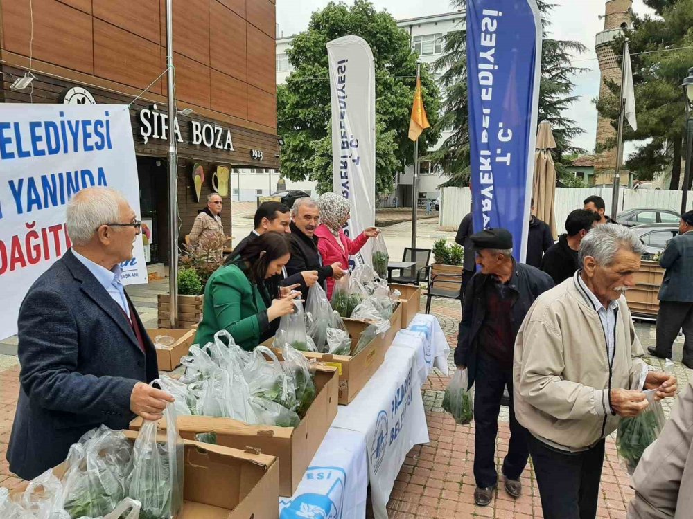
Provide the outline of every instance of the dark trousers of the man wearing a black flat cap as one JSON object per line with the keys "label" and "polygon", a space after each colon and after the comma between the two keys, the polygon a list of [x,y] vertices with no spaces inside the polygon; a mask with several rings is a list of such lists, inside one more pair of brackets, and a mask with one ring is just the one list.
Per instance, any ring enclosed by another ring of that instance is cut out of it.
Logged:
{"label": "dark trousers of the man wearing a black flat cap", "polygon": [[498,413],[503,389],[510,394],[510,444],[503,462],[503,475],[519,480],[525,470],[529,449],[527,430],[515,419],[513,408],[513,371],[502,369],[498,362],[480,352],[477,356],[474,381],[474,478],[477,486],[493,486],[498,482],[495,471],[495,437],[498,435]]}

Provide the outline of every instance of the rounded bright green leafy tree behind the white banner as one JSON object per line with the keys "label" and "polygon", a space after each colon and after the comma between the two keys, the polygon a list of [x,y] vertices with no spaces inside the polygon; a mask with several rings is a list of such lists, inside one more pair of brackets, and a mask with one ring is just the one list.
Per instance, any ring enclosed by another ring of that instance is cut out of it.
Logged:
{"label": "rounded bright green leafy tree behind the white banner", "polygon": [[[319,192],[332,191],[333,161],[331,100],[326,44],[333,39],[360,36],[373,52],[376,73],[376,192],[392,191],[396,172],[411,162],[414,143],[407,134],[416,86],[416,59],[407,32],[386,11],[377,12],[367,0],[353,6],[330,2],[313,13],[308,30],[295,37],[287,51],[295,70],[277,87],[282,173],[292,180],[317,181]],[[432,126],[439,118],[439,90],[428,68],[421,66],[423,102]],[[440,131],[424,131],[423,154]]]}

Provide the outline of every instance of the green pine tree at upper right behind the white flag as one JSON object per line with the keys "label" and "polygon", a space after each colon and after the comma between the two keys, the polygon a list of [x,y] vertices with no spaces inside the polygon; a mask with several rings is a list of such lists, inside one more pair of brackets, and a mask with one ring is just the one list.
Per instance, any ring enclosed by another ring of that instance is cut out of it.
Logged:
{"label": "green pine tree at upper right behind the white flag", "polygon": [[[647,140],[638,145],[626,167],[640,180],[672,168],[670,189],[678,189],[685,129],[685,102],[681,82],[693,66],[693,0],[646,0],[657,17],[633,17],[629,31],[629,51],[635,86],[638,131],[624,125],[624,141]],[[622,62],[623,37],[613,42],[613,51]],[[684,47],[684,48],[682,48]],[[678,50],[677,50],[678,49]],[[602,115],[617,127],[621,85],[607,81],[613,96],[597,102]],[[605,143],[614,147],[615,139]],[[690,185],[688,186],[690,189]]]}

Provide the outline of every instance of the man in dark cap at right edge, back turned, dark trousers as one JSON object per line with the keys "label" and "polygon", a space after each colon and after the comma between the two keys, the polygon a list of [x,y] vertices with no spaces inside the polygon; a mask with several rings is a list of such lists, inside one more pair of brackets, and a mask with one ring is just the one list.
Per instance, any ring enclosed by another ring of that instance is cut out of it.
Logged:
{"label": "man in dark cap at right edge, back turned, dark trousers", "polygon": [[667,270],[659,289],[657,345],[649,354],[672,358],[672,347],[683,328],[683,365],[693,369],[693,211],[681,215],[678,236],[667,243],[659,264]]}

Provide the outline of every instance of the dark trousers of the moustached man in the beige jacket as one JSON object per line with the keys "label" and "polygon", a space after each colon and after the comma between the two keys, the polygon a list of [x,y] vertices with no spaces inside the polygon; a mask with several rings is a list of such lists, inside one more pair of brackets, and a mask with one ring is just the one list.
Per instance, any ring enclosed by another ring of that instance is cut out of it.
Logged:
{"label": "dark trousers of the moustached man in the beige jacket", "polygon": [[527,436],[544,519],[595,519],[604,440],[585,452],[565,453]]}

